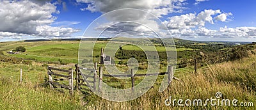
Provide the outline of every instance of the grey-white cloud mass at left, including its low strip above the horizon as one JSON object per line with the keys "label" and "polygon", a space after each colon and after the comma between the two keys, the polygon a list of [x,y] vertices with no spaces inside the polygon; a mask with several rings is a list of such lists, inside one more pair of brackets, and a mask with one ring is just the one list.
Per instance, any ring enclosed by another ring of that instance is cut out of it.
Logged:
{"label": "grey-white cloud mass at left, including its low strip above the horizon", "polygon": [[[1,1],[0,3],[0,36],[51,36],[49,31],[53,27],[49,26],[56,20],[52,13],[60,13],[54,4],[46,1]],[[45,32],[38,31],[44,26]],[[75,32],[76,29],[54,28],[54,31],[63,30]],[[70,31],[72,30],[72,31]],[[45,35],[44,35],[45,33]],[[47,33],[47,34],[46,34]],[[70,34],[65,34],[70,35]]]}

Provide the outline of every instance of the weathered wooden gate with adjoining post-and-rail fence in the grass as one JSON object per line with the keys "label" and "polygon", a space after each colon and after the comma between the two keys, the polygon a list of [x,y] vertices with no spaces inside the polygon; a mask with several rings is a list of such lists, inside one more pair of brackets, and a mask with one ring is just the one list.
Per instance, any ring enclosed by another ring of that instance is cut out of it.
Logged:
{"label": "weathered wooden gate with adjoining post-and-rail fence in the grass", "polygon": [[[97,63],[94,64],[94,68],[84,68],[84,67],[79,67],[79,65],[75,65],[75,71],[76,71],[76,77],[74,77],[74,73],[73,73],[73,69],[70,68],[69,70],[64,70],[61,68],[54,68],[54,67],[48,67],[47,68],[47,74],[49,75],[49,85],[50,88],[58,88],[58,86],[60,86],[60,88],[65,88],[69,90],[70,95],[73,94],[74,89],[76,90],[81,90],[81,86],[88,86],[88,88],[90,88],[90,90],[93,91],[101,91],[102,88],[102,79],[103,77],[131,77],[131,86],[132,89],[135,86],[135,79],[134,77],[140,77],[140,76],[150,76],[150,75],[166,75],[168,74],[168,84],[171,83],[172,79],[176,79],[179,80],[179,78],[174,77],[173,76],[173,66],[168,66],[168,71],[167,72],[162,72],[162,73],[155,73],[155,74],[134,74],[133,70],[131,69],[131,74],[124,74],[124,75],[110,75],[110,74],[103,74],[103,49],[101,52],[101,58],[100,58],[100,67],[99,67],[99,71],[97,70]],[[81,70],[83,70],[83,73]],[[58,74],[56,72],[64,72],[64,74]],[[97,72],[99,73],[99,75],[97,74]],[[59,79],[56,78],[52,78],[52,75],[56,75],[58,77],[61,77]],[[92,79],[92,80],[88,80],[88,79]],[[97,80],[99,79],[99,80]],[[54,81],[53,81],[54,80]],[[58,83],[58,81],[65,81],[68,80],[68,84],[60,84]],[[76,86],[74,88],[74,80],[76,80]],[[99,81],[97,83],[97,81]],[[96,90],[98,87],[98,90]]]}

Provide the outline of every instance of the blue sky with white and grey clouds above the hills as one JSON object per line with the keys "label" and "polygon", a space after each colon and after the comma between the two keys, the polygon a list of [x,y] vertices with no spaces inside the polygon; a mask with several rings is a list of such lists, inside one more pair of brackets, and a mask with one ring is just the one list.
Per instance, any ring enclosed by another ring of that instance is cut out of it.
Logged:
{"label": "blue sky with white and grey clouds above the hills", "polygon": [[155,32],[161,38],[256,42],[255,4],[255,0],[1,0],[0,42],[92,38],[102,31],[102,37]]}

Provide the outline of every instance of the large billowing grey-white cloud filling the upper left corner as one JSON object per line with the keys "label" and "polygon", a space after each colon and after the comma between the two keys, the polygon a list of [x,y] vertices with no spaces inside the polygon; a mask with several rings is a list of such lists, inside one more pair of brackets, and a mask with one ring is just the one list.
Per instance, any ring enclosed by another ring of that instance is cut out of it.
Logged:
{"label": "large billowing grey-white cloud filling the upper left corner", "polygon": [[36,34],[36,26],[51,24],[56,18],[51,13],[56,6],[31,1],[2,1],[0,3],[0,31]]}

